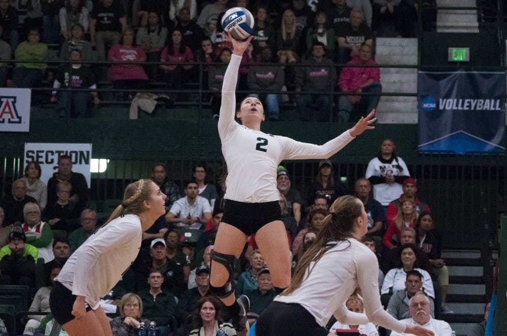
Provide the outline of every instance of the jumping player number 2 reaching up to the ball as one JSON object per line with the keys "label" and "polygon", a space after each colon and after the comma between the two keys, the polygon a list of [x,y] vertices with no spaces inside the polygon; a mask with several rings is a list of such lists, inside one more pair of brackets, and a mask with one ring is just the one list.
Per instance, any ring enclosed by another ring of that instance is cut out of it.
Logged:
{"label": "jumping player number 2 reaching up to the ball", "polygon": [[236,330],[241,330],[248,303],[246,298],[236,302],[232,277],[234,261],[247,236],[256,234],[275,287],[285,288],[291,282],[290,253],[276,188],[278,164],[285,159],[328,158],[365,130],[374,129],[370,124],[376,118],[372,111],[353,128],[320,146],[261,132],[265,115],[258,98],[247,97],[240,110],[235,110],[238,69],[251,36],[246,41],[231,37],[228,40],[233,45],[233,55],[224,77],[218,129],[229,174],[224,216],[211,253],[210,291],[229,307]]}

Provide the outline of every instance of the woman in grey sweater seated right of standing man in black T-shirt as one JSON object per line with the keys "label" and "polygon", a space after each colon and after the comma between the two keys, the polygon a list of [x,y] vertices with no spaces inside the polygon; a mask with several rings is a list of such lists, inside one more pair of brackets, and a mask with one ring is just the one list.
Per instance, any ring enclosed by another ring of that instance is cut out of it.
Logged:
{"label": "woman in grey sweater seated right of standing man in black T-shirt", "polygon": [[[148,13],[148,24],[140,27],[135,35],[135,43],[144,49],[146,60],[148,62],[160,61],[162,48],[164,48],[165,41],[167,40],[167,28],[162,26],[160,22],[160,15],[151,11]],[[147,64],[144,70],[151,80],[158,78],[158,66],[154,64]]]}

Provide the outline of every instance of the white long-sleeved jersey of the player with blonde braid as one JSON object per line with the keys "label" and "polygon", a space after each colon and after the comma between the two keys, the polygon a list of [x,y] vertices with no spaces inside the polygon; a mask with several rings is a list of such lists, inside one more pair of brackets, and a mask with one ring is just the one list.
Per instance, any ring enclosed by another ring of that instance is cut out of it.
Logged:
{"label": "white long-sleeved jersey of the player with blonde braid", "polygon": [[92,234],[65,262],[55,278],[97,309],[100,298],[116,285],[141,247],[137,215],[118,217]]}

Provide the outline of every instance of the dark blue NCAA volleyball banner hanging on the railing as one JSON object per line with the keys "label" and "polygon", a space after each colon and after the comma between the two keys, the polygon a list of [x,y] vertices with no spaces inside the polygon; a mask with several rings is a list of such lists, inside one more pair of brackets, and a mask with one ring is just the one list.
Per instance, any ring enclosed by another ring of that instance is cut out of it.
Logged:
{"label": "dark blue NCAA volleyball banner hanging on the railing", "polygon": [[504,153],[505,73],[417,76],[419,151]]}

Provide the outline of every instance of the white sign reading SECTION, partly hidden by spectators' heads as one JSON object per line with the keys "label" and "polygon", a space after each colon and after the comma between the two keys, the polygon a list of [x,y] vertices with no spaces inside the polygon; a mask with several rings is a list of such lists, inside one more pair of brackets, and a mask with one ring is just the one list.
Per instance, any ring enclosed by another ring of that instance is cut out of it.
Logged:
{"label": "white sign reading SECTION, partly hidden by spectators' heads", "polygon": [[53,173],[58,171],[58,157],[64,154],[70,156],[72,171],[83,174],[90,188],[92,144],[25,143],[23,169],[29,161],[39,162],[42,171],[41,181],[47,184]]}

